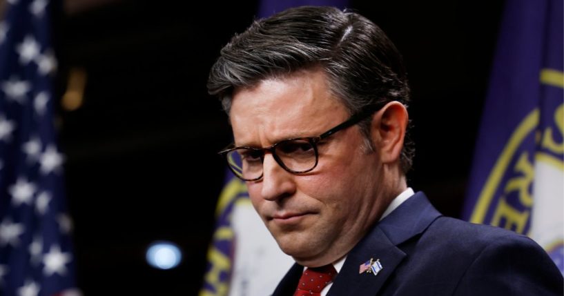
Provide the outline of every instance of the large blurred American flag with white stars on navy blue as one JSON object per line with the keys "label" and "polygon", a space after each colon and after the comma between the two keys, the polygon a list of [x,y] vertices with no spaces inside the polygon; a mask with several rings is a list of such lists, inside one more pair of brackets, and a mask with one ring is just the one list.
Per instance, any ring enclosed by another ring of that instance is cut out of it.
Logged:
{"label": "large blurred American flag with white stars on navy blue", "polygon": [[79,295],[55,143],[48,0],[0,21],[0,296]]}

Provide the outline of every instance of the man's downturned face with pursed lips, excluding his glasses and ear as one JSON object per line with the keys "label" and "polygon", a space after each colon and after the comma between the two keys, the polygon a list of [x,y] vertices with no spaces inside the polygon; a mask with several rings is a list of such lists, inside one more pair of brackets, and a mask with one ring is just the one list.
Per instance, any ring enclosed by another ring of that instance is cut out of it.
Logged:
{"label": "man's downturned face with pursed lips, excluding his glasses and ear", "polygon": [[[320,71],[297,72],[237,90],[230,111],[236,146],[271,146],[311,137],[349,118]],[[264,155],[264,176],[249,181],[253,206],[284,253],[307,266],[335,262],[382,212],[378,153],[363,148],[358,126],[318,144],[319,163],[295,175]],[[376,146],[378,147],[378,146]]]}

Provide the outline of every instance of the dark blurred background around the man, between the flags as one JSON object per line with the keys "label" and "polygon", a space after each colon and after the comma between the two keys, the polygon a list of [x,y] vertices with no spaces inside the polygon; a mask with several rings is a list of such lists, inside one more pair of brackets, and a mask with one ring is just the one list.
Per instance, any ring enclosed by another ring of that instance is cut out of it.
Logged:
{"label": "dark blurred background around the man, between the flags", "polygon": [[[86,295],[197,294],[223,182],[215,152],[230,141],[206,92],[208,69],[257,2],[68,0],[55,13],[57,124]],[[459,217],[503,1],[349,7],[405,57],[416,141],[409,185]],[[158,239],[180,246],[178,268],[146,264]]]}

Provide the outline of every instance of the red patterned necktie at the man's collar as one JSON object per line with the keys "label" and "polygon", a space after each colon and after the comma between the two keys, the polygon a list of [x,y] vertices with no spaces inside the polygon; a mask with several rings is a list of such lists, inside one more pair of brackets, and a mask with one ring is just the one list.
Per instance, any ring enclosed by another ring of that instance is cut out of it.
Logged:
{"label": "red patterned necktie at the man's collar", "polygon": [[337,275],[337,270],[333,264],[315,268],[307,268],[300,277],[298,288],[295,289],[294,296],[320,296],[321,290],[325,288]]}

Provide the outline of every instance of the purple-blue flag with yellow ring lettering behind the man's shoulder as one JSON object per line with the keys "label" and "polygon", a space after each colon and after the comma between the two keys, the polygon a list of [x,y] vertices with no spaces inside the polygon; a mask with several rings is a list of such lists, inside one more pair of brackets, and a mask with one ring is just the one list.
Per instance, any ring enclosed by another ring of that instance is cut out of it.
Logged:
{"label": "purple-blue flag with yellow ring lettering behind the man's shoulder", "polygon": [[507,1],[465,218],[529,235],[564,270],[563,1]]}

